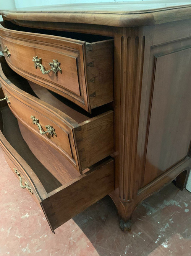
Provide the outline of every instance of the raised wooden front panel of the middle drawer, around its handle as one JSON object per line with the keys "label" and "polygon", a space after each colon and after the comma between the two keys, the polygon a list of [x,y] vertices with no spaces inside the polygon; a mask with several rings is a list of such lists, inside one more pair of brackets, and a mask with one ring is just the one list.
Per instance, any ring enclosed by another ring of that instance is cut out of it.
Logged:
{"label": "raised wooden front panel of the middle drawer, around its handle", "polygon": [[[50,145],[55,147],[59,152],[62,152],[68,159],[70,159],[73,164],[75,161],[71,152],[71,144],[73,139],[71,138],[72,131],[70,127],[66,126],[63,122],[57,124],[55,120],[53,121],[50,118],[50,113],[45,111],[40,105],[32,104],[28,102],[26,98],[19,97],[17,92],[11,91],[9,88],[5,88],[5,85],[2,85],[3,92],[8,96],[10,100],[9,107],[17,119],[21,121],[29,130],[34,132],[36,135],[40,136],[43,140],[48,142]],[[49,133],[41,135],[39,132],[39,127],[37,124],[33,124],[31,116],[35,116],[39,120],[39,124],[42,127],[43,131],[47,129],[45,126],[52,126],[55,129],[56,135],[51,136]],[[71,140],[71,141],[70,141]]]}

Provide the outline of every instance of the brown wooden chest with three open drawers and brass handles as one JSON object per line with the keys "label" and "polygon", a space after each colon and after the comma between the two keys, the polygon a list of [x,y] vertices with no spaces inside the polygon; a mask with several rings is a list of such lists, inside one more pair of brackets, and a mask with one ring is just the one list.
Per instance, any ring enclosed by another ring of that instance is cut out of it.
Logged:
{"label": "brown wooden chest with three open drawers and brass handles", "polygon": [[0,13],[0,144],[52,231],[107,194],[126,230],[146,197],[185,188],[189,3]]}

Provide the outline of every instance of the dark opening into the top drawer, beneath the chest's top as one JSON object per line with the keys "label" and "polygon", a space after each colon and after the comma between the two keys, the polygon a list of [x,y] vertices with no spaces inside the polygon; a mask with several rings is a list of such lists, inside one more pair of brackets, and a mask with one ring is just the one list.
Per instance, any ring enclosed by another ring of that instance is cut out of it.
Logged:
{"label": "dark opening into the top drawer, beneath the chest's top", "polygon": [[88,43],[112,39],[112,37],[109,37],[109,36],[100,36],[100,35],[67,32],[67,31],[57,31],[57,30],[44,30],[44,29],[40,29],[40,28],[29,28],[29,27],[15,25],[15,24],[11,23],[10,21],[2,21],[0,23],[4,28],[8,28],[11,30],[39,33],[39,34],[45,34],[45,35],[53,35],[53,36],[62,36],[65,38],[72,38],[75,40],[86,41]]}

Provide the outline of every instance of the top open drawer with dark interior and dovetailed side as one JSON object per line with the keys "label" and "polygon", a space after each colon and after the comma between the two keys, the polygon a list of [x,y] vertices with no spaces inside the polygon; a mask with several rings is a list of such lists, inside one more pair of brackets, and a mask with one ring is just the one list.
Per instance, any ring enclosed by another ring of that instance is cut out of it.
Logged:
{"label": "top open drawer with dark interior and dovetailed side", "polygon": [[0,48],[18,74],[90,113],[113,101],[113,39],[2,25]]}

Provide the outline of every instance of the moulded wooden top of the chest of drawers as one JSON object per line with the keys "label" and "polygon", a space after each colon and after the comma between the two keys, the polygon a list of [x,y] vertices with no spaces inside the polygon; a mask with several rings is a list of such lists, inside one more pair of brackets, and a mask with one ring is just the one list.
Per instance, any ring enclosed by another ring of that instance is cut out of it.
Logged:
{"label": "moulded wooden top of the chest of drawers", "polygon": [[191,0],[81,3],[1,10],[4,19],[142,26],[191,18]]}

